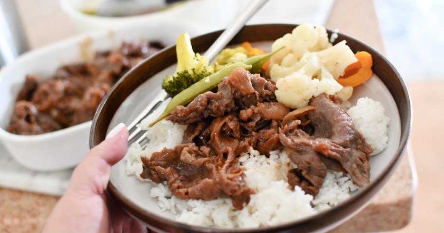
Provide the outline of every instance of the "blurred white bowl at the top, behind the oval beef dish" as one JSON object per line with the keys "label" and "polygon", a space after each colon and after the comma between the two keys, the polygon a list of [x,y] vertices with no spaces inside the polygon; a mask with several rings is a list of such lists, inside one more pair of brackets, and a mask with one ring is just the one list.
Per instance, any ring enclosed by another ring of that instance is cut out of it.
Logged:
{"label": "blurred white bowl at the top, behind the oval beef dish", "polygon": [[129,17],[100,17],[82,13],[86,7],[95,8],[100,0],[60,0],[63,11],[69,15],[79,32],[92,29],[113,29],[141,22],[172,21],[199,25],[200,34],[222,29],[238,13],[238,0],[187,0],[171,9]]}

